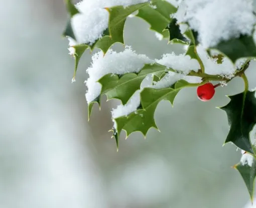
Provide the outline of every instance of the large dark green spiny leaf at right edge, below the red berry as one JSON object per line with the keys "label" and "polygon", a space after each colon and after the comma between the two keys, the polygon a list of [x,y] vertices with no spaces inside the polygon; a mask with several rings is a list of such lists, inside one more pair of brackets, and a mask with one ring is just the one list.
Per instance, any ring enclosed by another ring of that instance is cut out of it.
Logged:
{"label": "large dark green spiny leaf at right edge, below the red berry", "polygon": [[229,96],[230,102],[220,107],[227,113],[230,126],[225,143],[232,142],[244,151],[254,154],[249,133],[256,123],[255,91],[244,91]]}

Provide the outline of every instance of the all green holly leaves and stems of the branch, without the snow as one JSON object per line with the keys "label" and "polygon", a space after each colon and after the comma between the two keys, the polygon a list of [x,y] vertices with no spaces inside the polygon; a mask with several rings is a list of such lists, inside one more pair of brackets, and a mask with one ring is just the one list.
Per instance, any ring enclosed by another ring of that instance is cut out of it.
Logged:
{"label": "all green holly leaves and stems of the branch, without the snow", "polygon": [[[67,9],[70,18],[68,19],[67,27],[64,35],[76,39],[70,19],[72,16],[79,13],[76,7],[70,0],[66,0]],[[121,130],[126,131],[129,136],[134,131],[141,131],[145,136],[151,127],[157,128],[154,120],[154,113],[158,103],[161,100],[169,100],[172,104],[177,93],[184,87],[199,86],[211,80],[229,81],[220,75],[209,75],[204,73],[204,65],[197,54],[197,32],[188,27],[184,34],[180,32],[177,19],[171,18],[170,13],[176,12],[177,8],[165,0],[152,0],[135,4],[127,7],[114,6],[105,8],[109,12],[108,28],[104,31],[104,35],[97,39],[93,44],[88,43],[74,45],[75,48],[75,72],[77,70],[79,59],[86,49],[97,47],[105,53],[108,48],[115,42],[123,41],[123,27],[126,17],[138,10],[136,16],[146,20],[151,26],[150,28],[168,38],[169,42],[182,43],[188,45],[187,54],[191,58],[199,62],[200,70],[198,72],[191,71],[188,75],[202,77],[202,82],[191,84],[185,80],[179,80],[175,84],[161,89],[146,87],[141,91],[141,104],[136,111],[131,112],[127,116],[121,116],[114,119],[116,128],[113,130],[113,136],[116,139],[118,147],[118,136]],[[210,50],[211,48],[209,48]],[[235,62],[238,58],[247,57],[249,61],[256,56],[256,46],[252,36],[240,35],[237,38],[232,38],[227,41],[222,41],[214,47],[220,51],[217,56],[218,63],[221,63],[223,56],[227,56],[231,61]],[[237,70],[235,76],[241,76],[245,82],[245,90],[242,93],[229,96],[230,101],[226,106],[220,109],[224,110],[228,117],[230,130],[225,140],[232,142],[240,149],[253,156],[253,163],[237,163],[234,167],[242,175],[246,186],[252,198],[254,178],[256,176],[256,149],[251,144],[249,133],[256,123],[256,98],[255,92],[248,90],[248,82],[244,71],[248,66],[248,61]],[[140,89],[141,82],[148,74],[154,74],[154,80],[163,78],[166,71],[175,69],[167,68],[158,63],[146,64],[139,73],[106,74],[101,77],[98,82],[102,85],[101,94],[105,94],[108,99],[116,98],[121,100],[122,104],[126,104],[131,96]],[[100,96],[88,104],[88,115],[90,116],[93,103],[100,102]]]}

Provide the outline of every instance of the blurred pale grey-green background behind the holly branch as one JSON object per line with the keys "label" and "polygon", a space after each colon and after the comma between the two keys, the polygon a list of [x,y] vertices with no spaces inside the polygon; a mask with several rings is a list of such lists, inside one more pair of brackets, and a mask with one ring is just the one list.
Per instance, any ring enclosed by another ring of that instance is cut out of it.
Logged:
{"label": "blurred pale grey-green background behind the holly branch", "polygon": [[[146,140],[122,133],[116,152],[108,130],[117,102],[104,97],[87,121],[89,51],[71,84],[63,0],[0,1],[0,207],[245,207],[249,194],[231,168],[241,154],[234,145],[222,147],[227,117],[215,107],[228,102],[225,94],[241,92],[242,80],[218,87],[209,102],[199,101],[195,88],[182,90],[174,108],[165,101],[157,108],[161,133],[151,129]],[[128,18],[126,44],[151,58],[183,52],[148,28]],[[254,67],[247,70],[250,88]]]}

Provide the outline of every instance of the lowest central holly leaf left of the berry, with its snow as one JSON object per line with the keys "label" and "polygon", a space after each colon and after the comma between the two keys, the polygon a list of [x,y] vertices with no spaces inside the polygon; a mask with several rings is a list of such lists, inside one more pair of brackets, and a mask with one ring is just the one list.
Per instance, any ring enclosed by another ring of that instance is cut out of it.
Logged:
{"label": "lowest central holly leaf left of the berry, with its snow", "polygon": [[[159,81],[160,84],[143,88],[140,97],[138,96],[140,90],[137,91],[135,97],[132,97],[136,98],[135,102],[129,100],[127,103],[129,104],[129,111],[126,111],[127,105],[119,105],[112,111],[117,139],[122,129],[125,130],[126,137],[135,131],[142,132],[146,137],[151,127],[158,129],[154,119],[154,113],[158,103],[161,100],[169,100],[173,104],[174,98],[180,89],[189,85],[187,81],[179,80],[181,77],[177,77],[174,74],[167,74],[166,76],[169,76],[168,82],[163,78]],[[173,84],[176,80],[178,81]],[[133,107],[130,107],[133,103],[135,103]],[[125,110],[125,112],[123,112],[123,110]]]}

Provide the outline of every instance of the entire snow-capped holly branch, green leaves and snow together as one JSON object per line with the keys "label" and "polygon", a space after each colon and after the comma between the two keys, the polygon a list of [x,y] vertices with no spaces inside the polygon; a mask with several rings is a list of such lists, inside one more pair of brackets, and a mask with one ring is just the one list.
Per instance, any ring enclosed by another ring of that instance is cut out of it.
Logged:
{"label": "entire snow-capped holly branch, green leaves and snow together", "polygon": [[[207,93],[204,87],[210,86],[212,97],[216,87],[227,85],[233,77],[242,77],[244,91],[229,96],[228,104],[220,109],[226,112],[230,126],[225,143],[232,142],[242,150],[234,168],[252,197],[256,176],[256,98],[255,90],[248,90],[244,73],[256,57],[252,3],[253,0],[81,0],[73,5],[66,0],[69,19],[63,34],[69,40],[69,53],[75,58],[72,81],[84,51],[101,49],[92,56],[86,70],[88,116],[93,104],[100,104],[103,94],[107,100],[120,100],[121,104],[112,109],[112,131],[118,147],[121,130],[126,136],[135,131],[146,136],[150,128],[158,129],[154,114],[159,102],[168,100],[173,104],[181,89],[197,86],[204,90],[202,94],[197,92],[201,98]],[[129,16],[147,21],[159,40],[182,44],[184,53],[172,52],[154,59],[137,54],[132,47],[126,46],[121,52],[109,49],[116,42],[124,44],[123,29]]]}

